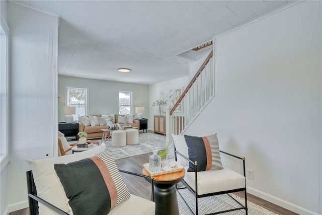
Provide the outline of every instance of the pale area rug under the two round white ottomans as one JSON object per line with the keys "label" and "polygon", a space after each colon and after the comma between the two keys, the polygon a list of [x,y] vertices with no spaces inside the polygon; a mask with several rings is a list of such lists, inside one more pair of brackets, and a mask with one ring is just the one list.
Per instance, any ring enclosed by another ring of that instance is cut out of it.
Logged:
{"label": "pale area rug under the two round white ottomans", "polygon": [[[93,139],[93,141],[102,141],[102,139]],[[77,141],[70,141],[77,142]],[[126,145],[124,147],[112,147],[111,138],[105,141],[106,149],[110,151],[115,160],[128,158],[136,155],[151,153],[151,147],[157,146],[160,150],[166,148],[166,136],[154,133],[139,133],[139,143],[136,145]]]}

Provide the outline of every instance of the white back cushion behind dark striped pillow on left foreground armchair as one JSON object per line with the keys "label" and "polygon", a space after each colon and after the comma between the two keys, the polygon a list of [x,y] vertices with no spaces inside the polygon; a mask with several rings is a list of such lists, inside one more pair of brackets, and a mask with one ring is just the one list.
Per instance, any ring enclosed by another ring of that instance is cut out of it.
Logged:
{"label": "white back cushion behind dark striped pillow on left foreground armchair", "polygon": [[[51,204],[59,207],[60,209],[68,212],[68,199],[65,192],[61,186],[59,178],[54,170],[54,164],[57,163],[70,163],[73,161],[78,161],[84,158],[92,157],[106,149],[105,144],[99,147],[93,148],[86,152],[75,153],[72,155],[41,159],[37,161],[26,160],[31,166],[33,172],[34,181],[37,189],[37,195],[40,198],[50,202]],[[39,214],[57,214],[47,206],[43,204],[38,204]]]}

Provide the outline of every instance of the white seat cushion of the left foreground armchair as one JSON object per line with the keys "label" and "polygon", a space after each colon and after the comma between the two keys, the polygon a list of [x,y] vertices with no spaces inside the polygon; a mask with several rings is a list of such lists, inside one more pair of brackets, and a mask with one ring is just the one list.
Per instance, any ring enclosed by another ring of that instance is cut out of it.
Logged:
{"label": "white seat cushion of the left foreground armchair", "polygon": [[131,198],[115,207],[109,215],[154,215],[155,203],[145,198],[132,195]]}

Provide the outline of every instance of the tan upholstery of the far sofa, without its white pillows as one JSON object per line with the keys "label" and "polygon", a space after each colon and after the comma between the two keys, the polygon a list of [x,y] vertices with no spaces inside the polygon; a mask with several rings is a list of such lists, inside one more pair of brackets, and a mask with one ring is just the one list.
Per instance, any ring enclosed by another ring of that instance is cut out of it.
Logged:
{"label": "tan upholstery of the far sofa, without its white pillows", "polygon": [[[111,115],[111,114],[109,114]],[[118,117],[122,116],[124,117],[125,115],[121,114],[113,114],[114,119],[112,123],[119,123],[118,122]],[[95,115],[98,117],[102,117],[104,115]],[[89,117],[89,116],[87,116]],[[138,130],[140,130],[140,121],[133,119],[133,123],[119,123],[121,126],[123,125],[132,125],[133,127],[137,127]],[[85,131],[87,133],[87,139],[94,139],[94,138],[102,138],[103,136],[103,131],[101,129],[106,129],[108,128],[109,125],[97,125],[97,126],[91,126],[91,125],[84,125],[81,120],[78,120],[78,132]]]}

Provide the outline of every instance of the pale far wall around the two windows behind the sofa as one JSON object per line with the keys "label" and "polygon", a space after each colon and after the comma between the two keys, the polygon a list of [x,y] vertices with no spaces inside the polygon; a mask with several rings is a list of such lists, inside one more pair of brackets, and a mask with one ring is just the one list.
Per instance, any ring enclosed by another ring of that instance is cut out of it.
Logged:
{"label": "pale far wall around the two windows behind the sofa", "polygon": [[148,85],[58,76],[59,122],[65,121],[62,109],[66,105],[67,86],[89,88],[89,115],[118,114],[119,91],[130,91],[133,92],[133,114],[135,114],[135,107],[143,106],[143,117],[148,117]]}

